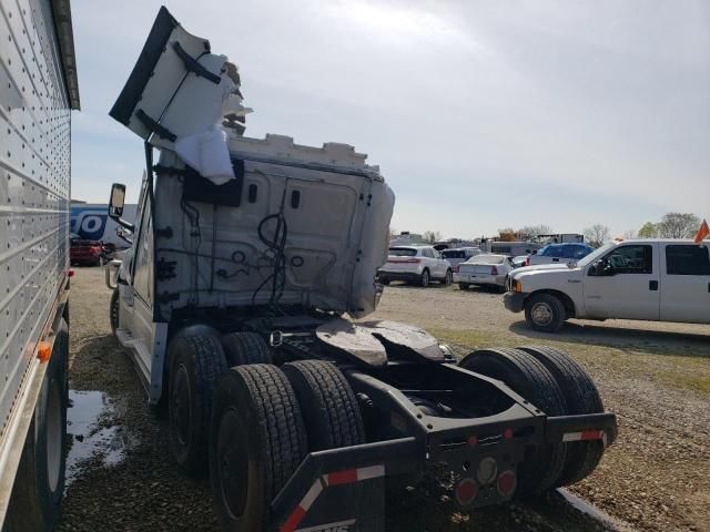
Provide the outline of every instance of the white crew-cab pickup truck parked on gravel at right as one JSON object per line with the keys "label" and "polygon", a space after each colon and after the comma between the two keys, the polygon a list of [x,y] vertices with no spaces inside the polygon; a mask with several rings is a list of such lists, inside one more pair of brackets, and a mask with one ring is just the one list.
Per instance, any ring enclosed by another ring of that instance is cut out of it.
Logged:
{"label": "white crew-cab pickup truck parked on gravel at right", "polygon": [[520,268],[508,279],[505,306],[547,332],[568,318],[710,324],[708,244],[625,241],[577,263]]}

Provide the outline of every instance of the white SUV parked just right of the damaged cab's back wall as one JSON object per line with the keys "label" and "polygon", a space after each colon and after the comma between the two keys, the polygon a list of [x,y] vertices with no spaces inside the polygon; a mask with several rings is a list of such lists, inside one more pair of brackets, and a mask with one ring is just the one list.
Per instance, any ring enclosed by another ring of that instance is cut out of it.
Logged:
{"label": "white SUV parked just right of the damaged cab's back wall", "polygon": [[383,285],[404,280],[426,287],[432,280],[449,285],[453,274],[452,264],[432,246],[397,246],[389,248],[387,262],[377,269],[377,279]]}

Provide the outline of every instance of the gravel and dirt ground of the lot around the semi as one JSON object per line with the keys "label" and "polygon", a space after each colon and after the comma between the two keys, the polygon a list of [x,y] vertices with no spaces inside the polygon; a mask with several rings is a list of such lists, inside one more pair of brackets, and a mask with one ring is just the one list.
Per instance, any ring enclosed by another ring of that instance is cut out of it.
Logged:
{"label": "gravel and dirt ground of the lot around the semi", "polygon": [[[146,406],[130,358],[111,336],[109,297],[101,268],[78,269],[71,480],[59,530],[214,530],[206,480],[171,463],[164,420]],[[617,443],[570,492],[465,512],[445,487],[427,481],[387,501],[388,531],[710,531],[710,327],[574,321],[560,335],[539,335],[506,311],[499,295],[398,285],[386,288],[373,318],[425,327],[459,354],[562,347],[619,418]],[[93,418],[85,410],[91,398],[99,405]]]}

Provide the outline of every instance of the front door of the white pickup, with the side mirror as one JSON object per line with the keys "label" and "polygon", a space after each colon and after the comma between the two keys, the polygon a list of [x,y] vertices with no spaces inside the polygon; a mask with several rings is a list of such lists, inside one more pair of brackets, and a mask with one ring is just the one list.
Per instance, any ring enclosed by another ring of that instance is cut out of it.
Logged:
{"label": "front door of the white pickup, with the side mirror", "polygon": [[660,318],[658,245],[620,244],[602,259],[613,267],[608,275],[589,275],[582,282],[586,316],[590,318]]}

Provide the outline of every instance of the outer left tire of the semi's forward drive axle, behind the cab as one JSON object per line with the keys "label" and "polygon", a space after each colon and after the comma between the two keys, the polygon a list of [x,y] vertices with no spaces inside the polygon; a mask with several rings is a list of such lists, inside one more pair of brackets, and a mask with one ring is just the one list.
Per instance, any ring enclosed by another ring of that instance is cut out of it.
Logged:
{"label": "outer left tire of the semi's forward drive axle, behind the cab", "polygon": [[170,345],[170,451],[189,474],[204,472],[212,392],[226,371],[220,340],[212,335],[180,336]]}

